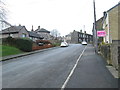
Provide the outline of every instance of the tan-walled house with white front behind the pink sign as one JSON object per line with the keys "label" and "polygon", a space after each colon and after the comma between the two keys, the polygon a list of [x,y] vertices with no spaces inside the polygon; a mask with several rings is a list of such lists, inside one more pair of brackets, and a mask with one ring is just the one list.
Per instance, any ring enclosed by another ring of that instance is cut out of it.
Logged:
{"label": "tan-walled house with white front behind the pink sign", "polygon": [[118,20],[120,20],[120,16],[118,12],[120,12],[120,3],[104,12],[103,18],[103,29],[106,31],[106,37],[104,37],[104,42],[112,43],[114,40],[119,39],[120,32],[118,31],[118,27],[120,26]]}

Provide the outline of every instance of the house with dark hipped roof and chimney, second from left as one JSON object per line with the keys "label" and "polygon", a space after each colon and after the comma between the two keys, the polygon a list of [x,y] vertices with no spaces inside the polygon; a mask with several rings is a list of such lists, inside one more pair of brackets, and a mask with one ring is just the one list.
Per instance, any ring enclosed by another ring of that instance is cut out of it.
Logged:
{"label": "house with dark hipped roof and chimney, second from left", "polygon": [[40,26],[38,26],[38,29],[35,30],[35,32],[37,34],[39,34],[41,37],[44,38],[44,40],[50,40],[50,31],[44,29],[44,28],[40,28]]}

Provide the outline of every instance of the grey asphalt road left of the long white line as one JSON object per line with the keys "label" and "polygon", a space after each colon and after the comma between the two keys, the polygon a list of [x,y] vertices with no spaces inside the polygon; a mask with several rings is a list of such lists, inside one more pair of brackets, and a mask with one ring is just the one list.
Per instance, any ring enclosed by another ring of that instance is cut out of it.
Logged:
{"label": "grey asphalt road left of the long white line", "polygon": [[60,88],[84,48],[70,45],[3,62],[3,88]]}

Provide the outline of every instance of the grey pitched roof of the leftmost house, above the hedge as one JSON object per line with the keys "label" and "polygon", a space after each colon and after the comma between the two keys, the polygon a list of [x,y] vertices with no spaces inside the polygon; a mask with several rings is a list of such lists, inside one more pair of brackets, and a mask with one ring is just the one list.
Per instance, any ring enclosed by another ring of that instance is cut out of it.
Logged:
{"label": "grey pitched roof of the leftmost house, above the hedge", "polygon": [[9,28],[6,28],[6,29],[0,31],[0,33],[3,33],[3,34],[5,34],[5,33],[18,33],[23,28],[25,28],[25,26],[11,26]]}

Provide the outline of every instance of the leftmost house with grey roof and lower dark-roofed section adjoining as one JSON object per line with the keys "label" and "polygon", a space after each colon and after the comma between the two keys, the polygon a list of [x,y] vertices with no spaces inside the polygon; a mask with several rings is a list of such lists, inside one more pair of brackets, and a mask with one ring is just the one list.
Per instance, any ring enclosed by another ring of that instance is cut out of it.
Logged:
{"label": "leftmost house with grey roof and lower dark-roofed section adjoining", "polygon": [[25,26],[21,25],[11,26],[0,31],[0,38],[7,38],[8,36],[11,36],[13,38],[30,38],[33,41],[43,39],[43,37],[40,37],[40,35],[36,32],[28,31]]}

